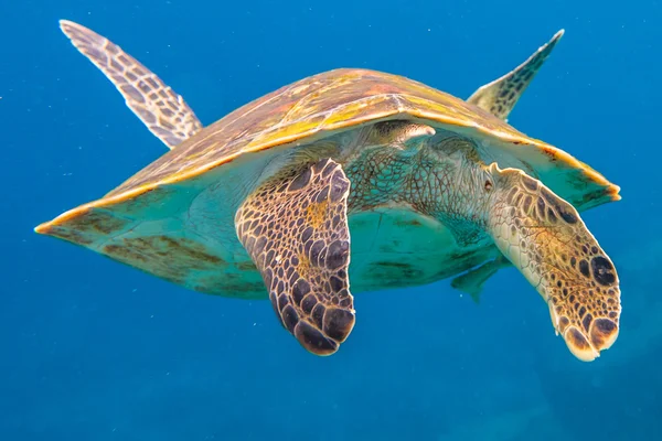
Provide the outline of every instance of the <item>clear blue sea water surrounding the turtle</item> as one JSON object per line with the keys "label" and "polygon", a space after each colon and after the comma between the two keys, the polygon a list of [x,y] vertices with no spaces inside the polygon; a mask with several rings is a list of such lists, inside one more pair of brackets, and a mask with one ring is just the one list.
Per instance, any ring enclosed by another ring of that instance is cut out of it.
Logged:
{"label": "clear blue sea water surrounding the turtle", "polygon": [[[662,440],[658,1],[8,2],[0,26],[0,440]],[[510,122],[623,200],[584,214],[621,278],[620,337],[581,363],[514,269],[357,295],[306,353],[268,302],[214,298],[38,236],[166,150],[61,34],[107,35],[204,123],[341,66],[459,97],[566,35]]]}

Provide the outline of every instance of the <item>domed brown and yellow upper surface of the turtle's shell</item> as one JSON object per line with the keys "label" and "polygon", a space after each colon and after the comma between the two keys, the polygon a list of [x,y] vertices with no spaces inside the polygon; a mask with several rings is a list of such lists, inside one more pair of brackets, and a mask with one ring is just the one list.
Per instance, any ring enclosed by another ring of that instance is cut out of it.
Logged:
{"label": "domed brown and yellow upper surface of the turtle's shell", "polygon": [[244,152],[404,114],[409,118],[474,127],[520,143],[548,147],[480,108],[421,83],[375,71],[335,69],[281,87],[238,108],[146,166],[107,196],[148,183],[177,180],[196,169],[232,161]]}

